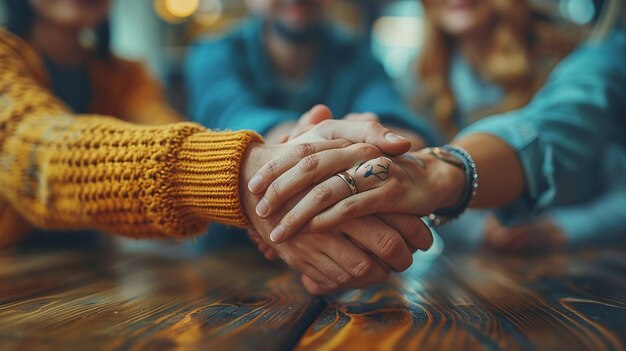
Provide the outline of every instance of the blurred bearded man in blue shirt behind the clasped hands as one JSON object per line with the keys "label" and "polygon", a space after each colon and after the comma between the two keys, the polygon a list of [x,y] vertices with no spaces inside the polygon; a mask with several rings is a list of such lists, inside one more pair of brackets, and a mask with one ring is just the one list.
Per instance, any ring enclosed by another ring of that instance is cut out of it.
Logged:
{"label": "blurred bearded man in blue shirt behind the clasped hands", "polygon": [[324,20],[330,0],[246,0],[252,16],[232,33],[188,54],[191,118],[220,130],[252,129],[277,142],[315,104],[333,114],[379,118],[411,140],[434,143],[406,109],[365,45]]}

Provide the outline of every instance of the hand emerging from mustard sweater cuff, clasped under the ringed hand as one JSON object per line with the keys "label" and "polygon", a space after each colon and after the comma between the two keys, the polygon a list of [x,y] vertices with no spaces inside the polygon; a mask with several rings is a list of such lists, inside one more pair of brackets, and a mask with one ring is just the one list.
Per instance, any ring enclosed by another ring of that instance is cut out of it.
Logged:
{"label": "hand emerging from mustard sweater cuff, clasped under the ringed hand", "polygon": [[[302,158],[308,155],[307,152],[317,152],[324,147],[342,146],[345,143],[326,141],[305,146],[253,144],[244,158],[240,183],[243,187],[245,180],[266,162],[264,160],[276,154],[295,153]],[[248,214],[253,213],[258,199],[243,189],[241,194],[244,210]],[[260,235],[269,241],[269,232],[280,215],[265,220],[250,215],[249,218]],[[390,268],[403,270],[411,264],[412,250],[427,249],[431,243],[432,237],[419,218],[386,215],[347,221],[337,230],[299,235],[289,243],[271,243],[270,247],[290,266],[304,273],[302,280],[308,291],[324,294],[382,282],[387,279]],[[378,259],[370,256],[369,252]]]}

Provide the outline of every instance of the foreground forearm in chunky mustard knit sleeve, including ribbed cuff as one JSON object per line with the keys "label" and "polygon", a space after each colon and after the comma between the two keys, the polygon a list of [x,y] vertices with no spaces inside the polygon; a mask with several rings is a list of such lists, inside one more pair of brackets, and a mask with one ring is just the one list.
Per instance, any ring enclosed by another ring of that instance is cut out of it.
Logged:
{"label": "foreground forearm in chunky mustard knit sleeve, including ribbed cuff", "polygon": [[249,132],[140,127],[100,117],[22,121],[2,155],[2,196],[38,227],[185,237],[209,222],[246,225],[238,170]]}

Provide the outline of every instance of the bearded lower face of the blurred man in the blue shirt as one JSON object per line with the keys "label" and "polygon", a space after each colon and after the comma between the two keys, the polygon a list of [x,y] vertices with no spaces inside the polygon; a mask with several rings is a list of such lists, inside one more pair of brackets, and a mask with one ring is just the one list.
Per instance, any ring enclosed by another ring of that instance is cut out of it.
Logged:
{"label": "bearded lower face of the blurred man in the blue shirt", "polygon": [[324,4],[330,0],[246,0],[251,11],[287,29],[299,32],[318,26]]}

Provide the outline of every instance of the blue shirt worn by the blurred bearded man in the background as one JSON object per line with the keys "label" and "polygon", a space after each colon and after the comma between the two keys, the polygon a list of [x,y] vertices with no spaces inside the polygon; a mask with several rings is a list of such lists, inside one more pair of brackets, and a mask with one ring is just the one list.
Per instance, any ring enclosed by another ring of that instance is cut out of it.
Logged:
{"label": "blue shirt worn by the blurred bearded man in the background", "polygon": [[373,112],[383,124],[413,130],[431,144],[438,141],[433,129],[403,105],[365,47],[326,28],[311,72],[290,86],[272,69],[262,29],[262,21],[251,19],[230,35],[190,49],[185,76],[192,120],[213,129],[265,134],[322,103],[339,118]]}

